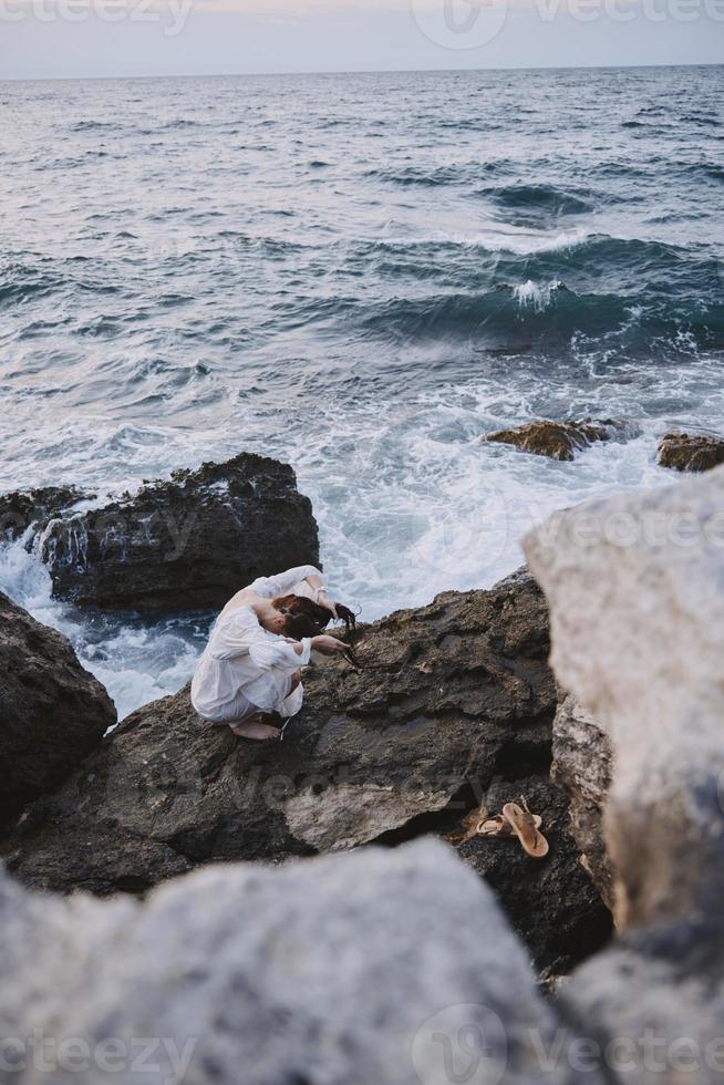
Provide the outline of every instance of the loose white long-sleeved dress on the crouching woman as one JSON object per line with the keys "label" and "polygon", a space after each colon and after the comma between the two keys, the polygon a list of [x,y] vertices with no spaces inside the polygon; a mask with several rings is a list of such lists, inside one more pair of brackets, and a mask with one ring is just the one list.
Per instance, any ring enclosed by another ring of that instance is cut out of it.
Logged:
{"label": "loose white long-sleeved dress on the crouching woman", "polygon": [[[262,599],[286,595],[314,595],[304,583],[319,569],[302,565],[276,577],[259,577],[249,589]],[[293,589],[299,589],[294,591]],[[192,704],[210,723],[235,723],[259,712],[276,712],[285,719],[302,706],[301,683],[290,692],[292,675],[309,663],[311,641],[294,641],[267,632],[251,607],[236,607],[219,616],[192,682]]]}

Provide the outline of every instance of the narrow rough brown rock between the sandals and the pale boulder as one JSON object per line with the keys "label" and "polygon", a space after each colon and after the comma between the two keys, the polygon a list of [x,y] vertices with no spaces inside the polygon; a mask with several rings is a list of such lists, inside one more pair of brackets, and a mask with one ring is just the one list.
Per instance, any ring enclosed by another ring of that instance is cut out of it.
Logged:
{"label": "narrow rough brown rock between the sandals and the pale boulder", "polygon": [[611,743],[594,720],[568,695],[554,720],[551,777],[570,800],[571,833],[581,862],[602,900],[613,909],[613,871],[603,840],[603,810],[611,786]]}

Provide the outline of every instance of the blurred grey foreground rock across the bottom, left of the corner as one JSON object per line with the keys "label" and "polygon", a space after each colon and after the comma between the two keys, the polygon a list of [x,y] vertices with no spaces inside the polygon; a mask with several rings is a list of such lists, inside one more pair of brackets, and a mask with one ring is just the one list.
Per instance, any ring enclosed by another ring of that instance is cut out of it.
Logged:
{"label": "blurred grey foreground rock across the bottom, left of the corner", "polygon": [[214,867],[143,902],[0,871],[0,981],[19,1085],[41,1041],[53,1085],[578,1081],[492,893],[432,841]]}

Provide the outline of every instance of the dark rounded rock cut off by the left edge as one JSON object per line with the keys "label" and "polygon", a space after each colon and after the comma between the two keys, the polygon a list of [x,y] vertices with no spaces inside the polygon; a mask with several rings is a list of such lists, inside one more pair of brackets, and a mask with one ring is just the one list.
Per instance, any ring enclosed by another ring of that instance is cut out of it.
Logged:
{"label": "dark rounded rock cut off by the left edge", "polygon": [[116,721],[70,642],[0,592],[0,824],[51,790]]}

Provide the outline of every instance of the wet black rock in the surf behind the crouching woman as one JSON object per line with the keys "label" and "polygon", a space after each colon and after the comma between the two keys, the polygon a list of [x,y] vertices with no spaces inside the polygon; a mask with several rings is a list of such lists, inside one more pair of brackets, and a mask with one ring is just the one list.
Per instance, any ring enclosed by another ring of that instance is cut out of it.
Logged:
{"label": "wet black rock in the surf behind the crouching woman", "polygon": [[255,577],[317,565],[319,540],[291,467],[241,454],[51,520],[41,556],[59,598],[161,613],[220,608]]}

